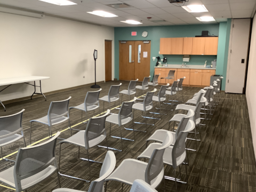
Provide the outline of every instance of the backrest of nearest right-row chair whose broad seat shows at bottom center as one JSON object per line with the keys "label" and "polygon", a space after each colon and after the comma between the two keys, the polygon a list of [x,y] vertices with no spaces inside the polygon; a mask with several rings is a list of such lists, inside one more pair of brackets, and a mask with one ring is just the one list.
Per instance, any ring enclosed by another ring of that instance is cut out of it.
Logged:
{"label": "backrest of nearest right-row chair whose broad seat shows at bottom center", "polygon": [[163,170],[164,150],[172,144],[172,141],[173,141],[172,134],[170,132],[167,132],[161,147],[154,149],[145,171],[145,181],[149,185],[151,185],[151,181],[155,179],[157,175],[161,173],[161,171]]}

